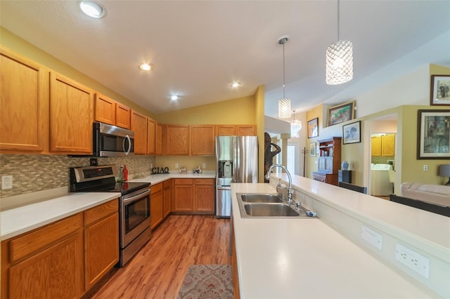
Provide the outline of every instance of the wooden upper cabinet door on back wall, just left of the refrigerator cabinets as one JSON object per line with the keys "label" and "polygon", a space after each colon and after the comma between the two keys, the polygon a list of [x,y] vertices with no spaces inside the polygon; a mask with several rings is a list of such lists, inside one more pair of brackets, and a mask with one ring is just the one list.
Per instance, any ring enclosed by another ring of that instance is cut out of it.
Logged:
{"label": "wooden upper cabinet door on back wall, just left of the refrigerator cabinets", "polygon": [[191,155],[214,155],[214,126],[191,126]]}

